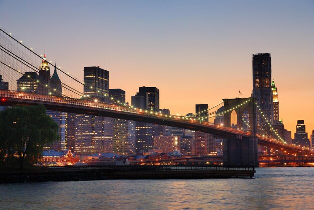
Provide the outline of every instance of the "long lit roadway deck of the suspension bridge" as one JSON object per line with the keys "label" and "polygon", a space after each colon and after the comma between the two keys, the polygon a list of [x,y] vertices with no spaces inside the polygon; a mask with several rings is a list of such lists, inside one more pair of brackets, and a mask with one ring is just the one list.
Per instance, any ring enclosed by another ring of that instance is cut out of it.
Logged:
{"label": "long lit roadway deck of the suspension bridge", "polygon": [[[65,98],[51,95],[40,95],[26,92],[0,90],[0,105],[44,105],[48,110],[70,112],[76,114],[87,114],[104,117],[119,118],[125,120],[134,120],[172,127],[185,128],[204,133],[217,135],[220,137],[251,137],[249,132],[236,130],[212,123],[199,123],[195,119],[186,119],[183,116],[165,115],[159,112],[141,110],[122,105],[108,104],[102,102],[87,101],[81,99]],[[308,153],[299,147],[283,144],[279,141],[258,136],[259,144],[271,146],[275,149],[284,148],[288,151]]]}

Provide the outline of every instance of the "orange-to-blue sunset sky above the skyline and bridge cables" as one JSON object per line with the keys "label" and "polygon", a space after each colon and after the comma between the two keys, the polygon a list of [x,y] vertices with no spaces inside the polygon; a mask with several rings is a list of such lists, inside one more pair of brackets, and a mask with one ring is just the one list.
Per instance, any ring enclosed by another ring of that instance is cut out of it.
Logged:
{"label": "orange-to-blue sunset sky above the skyline and bridge cables", "polygon": [[128,102],[155,86],[180,115],[250,97],[252,54],[271,53],[285,128],[314,129],[314,1],[0,0],[0,28],[81,81],[108,70]]}

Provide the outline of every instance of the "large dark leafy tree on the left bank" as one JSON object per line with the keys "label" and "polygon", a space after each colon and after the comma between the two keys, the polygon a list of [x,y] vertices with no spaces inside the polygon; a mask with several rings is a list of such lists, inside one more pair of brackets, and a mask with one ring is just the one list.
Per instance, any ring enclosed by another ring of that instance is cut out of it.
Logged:
{"label": "large dark leafy tree on the left bank", "polygon": [[0,112],[0,158],[13,156],[23,168],[33,162],[46,144],[58,139],[58,125],[43,105],[13,107]]}

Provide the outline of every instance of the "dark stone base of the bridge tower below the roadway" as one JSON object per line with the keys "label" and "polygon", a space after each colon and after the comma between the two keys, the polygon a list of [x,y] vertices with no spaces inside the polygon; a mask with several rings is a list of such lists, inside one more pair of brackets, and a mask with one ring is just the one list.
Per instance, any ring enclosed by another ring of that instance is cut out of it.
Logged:
{"label": "dark stone base of the bridge tower below the roadway", "polygon": [[252,165],[258,167],[257,137],[228,137],[224,139],[224,165]]}

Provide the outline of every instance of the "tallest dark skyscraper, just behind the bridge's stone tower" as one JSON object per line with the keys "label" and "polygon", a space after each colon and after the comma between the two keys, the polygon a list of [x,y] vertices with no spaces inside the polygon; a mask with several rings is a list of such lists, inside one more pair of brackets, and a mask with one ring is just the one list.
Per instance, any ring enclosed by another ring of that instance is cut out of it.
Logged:
{"label": "tallest dark skyscraper, just behind the bridge's stone tower", "polygon": [[[253,93],[257,105],[266,119],[273,124],[273,95],[271,89],[271,57],[270,53],[253,54]],[[265,120],[256,114],[257,126],[270,134]]]}

